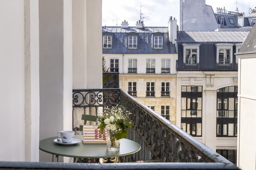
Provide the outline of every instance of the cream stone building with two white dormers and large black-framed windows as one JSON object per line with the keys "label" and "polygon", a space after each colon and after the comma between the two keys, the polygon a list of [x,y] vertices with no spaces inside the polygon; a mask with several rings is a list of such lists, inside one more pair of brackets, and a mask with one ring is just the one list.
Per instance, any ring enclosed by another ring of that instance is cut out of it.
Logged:
{"label": "cream stone building with two white dormers and large black-framed windows", "polygon": [[176,123],[233,163],[238,111],[238,63],[234,54],[247,35],[177,33]]}

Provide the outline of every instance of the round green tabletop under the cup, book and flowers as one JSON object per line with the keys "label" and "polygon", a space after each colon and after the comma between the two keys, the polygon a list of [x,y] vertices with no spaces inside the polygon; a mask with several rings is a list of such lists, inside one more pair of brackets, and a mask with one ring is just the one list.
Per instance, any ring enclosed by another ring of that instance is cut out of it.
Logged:
{"label": "round green tabletop under the cup, book and flowers", "polygon": [[83,144],[83,135],[74,136],[74,138],[81,140],[74,145],[57,144],[54,142],[56,138],[58,137],[46,138],[39,141],[39,149],[56,156],[73,158],[113,158],[127,156],[140,150],[140,144],[125,138],[122,138],[120,141],[119,151],[108,151],[106,144]]}

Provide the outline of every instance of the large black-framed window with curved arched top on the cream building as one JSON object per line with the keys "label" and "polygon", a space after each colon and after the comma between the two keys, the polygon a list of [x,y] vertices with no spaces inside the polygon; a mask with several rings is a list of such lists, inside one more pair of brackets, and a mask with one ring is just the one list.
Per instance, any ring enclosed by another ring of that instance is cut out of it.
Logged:
{"label": "large black-framed window with curved arched top on the cream building", "polygon": [[217,90],[217,137],[237,136],[238,86]]}

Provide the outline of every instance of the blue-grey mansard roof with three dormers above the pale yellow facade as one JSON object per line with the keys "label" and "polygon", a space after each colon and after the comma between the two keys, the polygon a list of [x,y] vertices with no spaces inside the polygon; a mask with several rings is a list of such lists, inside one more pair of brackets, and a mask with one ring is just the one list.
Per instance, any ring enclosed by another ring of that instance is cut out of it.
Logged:
{"label": "blue-grey mansard roof with three dormers above the pale yellow facade", "polygon": [[[168,27],[143,27],[135,26],[122,28],[121,26],[103,26],[102,34],[113,33],[112,48],[102,49],[104,54],[170,54],[176,53],[175,43],[171,43],[168,35]],[[137,33],[137,49],[129,49],[128,35]],[[152,46],[153,36],[163,35],[163,48],[154,49]]]}

